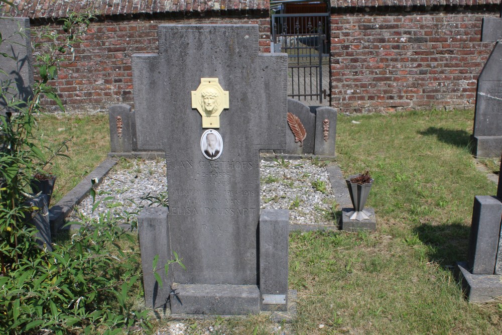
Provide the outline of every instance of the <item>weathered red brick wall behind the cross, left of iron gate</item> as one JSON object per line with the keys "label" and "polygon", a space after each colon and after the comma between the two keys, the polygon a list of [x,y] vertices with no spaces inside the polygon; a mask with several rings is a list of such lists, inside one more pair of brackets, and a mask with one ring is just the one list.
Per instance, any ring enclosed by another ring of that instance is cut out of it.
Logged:
{"label": "weathered red brick wall behind the cross, left of iron gate", "polygon": [[[131,55],[158,52],[159,24],[258,24],[260,51],[270,52],[270,21],[244,18],[191,20],[136,19],[95,22],[75,47],[75,61],[67,64],[52,85],[67,111],[107,110],[113,103],[133,105]],[[37,29],[37,27],[33,27]],[[57,26],[54,26],[57,29]],[[180,78],[182,79],[182,78]],[[46,104],[50,101],[43,101]],[[55,110],[58,108],[53,104]]]}

